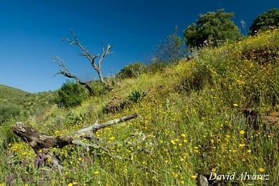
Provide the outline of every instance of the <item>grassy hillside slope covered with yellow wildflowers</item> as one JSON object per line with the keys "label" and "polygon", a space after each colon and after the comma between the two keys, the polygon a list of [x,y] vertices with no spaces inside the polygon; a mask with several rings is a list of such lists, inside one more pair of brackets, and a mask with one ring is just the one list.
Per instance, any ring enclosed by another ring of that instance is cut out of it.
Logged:
{"label": "grassy hillside slope covered with yellow wildflowers", "polygon": [[[41,132],[69,134],[137,112],[139,118],[98,132],[104,150],[91,154],[73,146],[52,149],[62,173],[36,168],[35,155],[20,139],[3,136],[0,183],[6,185],[196,185],[197,174],[269,174],[269,180],[230,184],[279,183],[279,31],[248,37],[223,47],[197,50],[164,72],[116,82],[109,93],[74,109],[53,106],[24,122]],[[112,100],[145,91],[141,102],[105,114]],[[1,130],[8,131],[10,124]],[[10,134],[12,135],[12,134]],[[86,142],[86,141],[85,141]],[[220,181],[223,185],[224,183]]]}

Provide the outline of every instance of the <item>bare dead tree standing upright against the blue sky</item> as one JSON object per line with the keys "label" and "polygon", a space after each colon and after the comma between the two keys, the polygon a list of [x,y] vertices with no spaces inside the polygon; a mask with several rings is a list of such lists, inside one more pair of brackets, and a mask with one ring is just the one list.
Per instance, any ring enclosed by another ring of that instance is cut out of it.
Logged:
{"label": "bare dead tree standing upright against the blue sky", "polygon": [[[105,84],[105,86],[107,86],[107,88],[110,87],[109,84],[107,84],[107,82],[105,82],[105,79],[102,75],[101,72],[101,63],[103,61],[103,59],[105,58],[105,56],[109,55],[112,53],[112,46],[109,44],[107,45],[107,47],[105,48],[105,45],[103,45],[103,42],[101,42],[102,47],[103,47],[103,52],[102,54],[90,54],[90,52],[80,43],[80,40],[77,39],[77,35],[73,32],[70,31],[71,35],[73,36],[73,40],[70,40],[68,38],[63,38],[63,41],[66,41],[69,43],[69,45],[77,45],[77,47],[80,48],[80,52],[79,55],[80,56],[84,56],[86,59],[88,59],[93,67],[93,69],[97,72],[98,77],[100,78],[100,82],[102,82],[103,84]],[[98,59],[98,63],[96,63],[96,59],[100,57]],[[82,84],[82,86],[84,86],[85,88],[87,88],[89,90],[90,93],[92,93],[92,88],[89,86],[89,84],[86,84],[85,82],[80,81],[80,79],[78,79],[75,75],[71,74],[70,71],[68,70],[68,68],[66,67],[65,63],[57,56],[54,57],[54,62],[58,63],[59,66],[61,67],[59,72],[56,73],[56,75],[60,74],[63,75],[65,77],[71,78],[71,79],[75,79],[75,81],[78,84]]]}

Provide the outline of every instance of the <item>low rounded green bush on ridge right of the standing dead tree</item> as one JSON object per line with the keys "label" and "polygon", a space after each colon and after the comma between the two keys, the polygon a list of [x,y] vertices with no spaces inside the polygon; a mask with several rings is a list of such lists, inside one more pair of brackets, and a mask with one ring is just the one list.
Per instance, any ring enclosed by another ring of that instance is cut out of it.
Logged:
{"label": "low rounded green bush on ridge right of the standing dead tree", "polygon": [[146,67],[143,63],[133,63],[122,68],[116,77],[120,79],[138,77],[142,74],[145,68]]}

